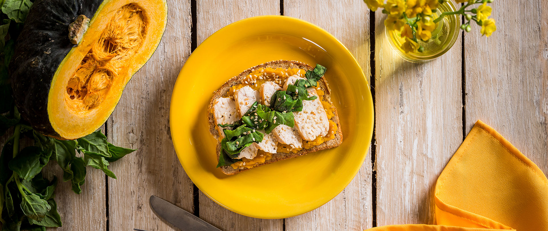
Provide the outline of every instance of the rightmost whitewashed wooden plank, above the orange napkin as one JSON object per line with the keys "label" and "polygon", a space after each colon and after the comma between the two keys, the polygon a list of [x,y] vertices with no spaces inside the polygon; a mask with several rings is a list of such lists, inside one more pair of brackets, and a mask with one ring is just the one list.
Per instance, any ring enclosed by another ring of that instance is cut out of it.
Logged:
{"label": "rightmost whitewashed wooden plank, above the orange napkin", "polygon": [[[496,31],[465,36],[466,132],[479,119],[548,173],[548,3],[495,1]],[[519,5],[520,7],[516,7]]]}

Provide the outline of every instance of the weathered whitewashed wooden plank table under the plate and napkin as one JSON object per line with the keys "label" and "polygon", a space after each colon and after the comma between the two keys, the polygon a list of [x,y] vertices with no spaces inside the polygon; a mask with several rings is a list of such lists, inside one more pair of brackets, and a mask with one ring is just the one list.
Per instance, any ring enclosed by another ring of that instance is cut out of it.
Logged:
{"label": "weathered whitewashed wooden plank table under the plate and napkin", "polygon": [[[115,145],[139,151],[112,164],[118,180],[88,171],[81,195],[60,183],[56,201],[64,226],[58,230],[178,230],[152,212],[150,195],[222,230],[433,223],[436,179],[478,119],[548,172],[546,1],[495,0],[498,30],[492,37],[482,37],[472,25],[447,54],[424,64],[399,59],[386,41],[383,15],[360,0],[168,0],[168,5],[162,43],[129,82],[105,128]],[[186,176],[170,139],[169,101],[187,57],[210,34],[240,19],[279,14],[334,34],[372,76],[375,134],[358,175],[335,199],[304,215],[260,220],[215,204]],[[58,168],[48,172],[61,175]]]}

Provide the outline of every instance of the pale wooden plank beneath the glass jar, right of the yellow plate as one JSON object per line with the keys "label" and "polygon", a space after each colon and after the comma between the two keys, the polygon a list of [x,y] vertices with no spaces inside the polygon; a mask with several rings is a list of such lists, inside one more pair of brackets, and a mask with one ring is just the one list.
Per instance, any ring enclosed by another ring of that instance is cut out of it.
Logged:
{"label": "pale wooden plank beneath the glass jar, right of the yellow plate", "polygon": [[403,61],[375,13],[377,225],[435,222],[433,186],[463,141],[461,38],[428,63]]}

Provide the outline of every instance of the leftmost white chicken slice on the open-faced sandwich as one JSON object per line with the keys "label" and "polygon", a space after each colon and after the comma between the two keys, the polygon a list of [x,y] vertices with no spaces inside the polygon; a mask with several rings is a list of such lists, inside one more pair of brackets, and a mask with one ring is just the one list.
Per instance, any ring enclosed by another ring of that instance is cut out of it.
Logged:
{"label": "leftmost white chicken slice on the open-faced sandwich", "polygon": [[[238,112],[236,110],[236,102],[230,98],[219,98],[215,101],[213,106],[213,118],[215,119],[215,125],[217,124],[233,124],[239,120]],[[225,133],[222,132],[225,128],[217,126],[221,138],[225,137]]]}

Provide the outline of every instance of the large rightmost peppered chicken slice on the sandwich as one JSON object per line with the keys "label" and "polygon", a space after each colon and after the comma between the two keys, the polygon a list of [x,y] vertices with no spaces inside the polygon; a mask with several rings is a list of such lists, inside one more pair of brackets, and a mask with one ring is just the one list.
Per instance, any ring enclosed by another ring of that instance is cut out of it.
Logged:
{"label": "large rightmost peppered chicken slice on the sandwich", "polygon": [[[315,88],[308,88],[310,96],[318,96]],[[295,128],[303,140],[312,141],[318,136],[326,136],[329,131],[329,119],[323,109],[319,96],[315,100],[303,100],[302,111],[293,113]]]}

